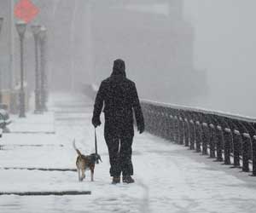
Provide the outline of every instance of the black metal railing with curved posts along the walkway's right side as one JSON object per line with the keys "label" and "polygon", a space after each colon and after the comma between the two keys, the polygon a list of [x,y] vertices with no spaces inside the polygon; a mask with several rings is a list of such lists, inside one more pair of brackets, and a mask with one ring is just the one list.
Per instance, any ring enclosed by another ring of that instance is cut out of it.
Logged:
{"label": "black metal railing with curved posts along the walkway's right side", "polygon": [[[256,176],[256,119],[141,101],[146,130]],[[233,160],[231,160],[233,159]]]}

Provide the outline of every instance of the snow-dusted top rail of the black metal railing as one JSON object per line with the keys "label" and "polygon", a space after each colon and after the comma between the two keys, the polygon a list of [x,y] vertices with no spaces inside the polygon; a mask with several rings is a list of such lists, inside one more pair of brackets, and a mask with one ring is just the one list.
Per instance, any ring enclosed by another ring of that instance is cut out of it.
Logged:
{"label": "snow-dusted top rail of the black metal railing", "polygon": [[174,108],[177,110],[184,110],[184,111],[201,112],[205,114],[212,114],[212,115],[222,116],[226,118],[241,120],[249,123],[256,123],[256,118],[249,118],[247,116],[241,116],[241,115],[231,114],[227,112],[212,111],[212,110],[207,110],[200,107],[188,107],[188,106],[169,104],[169,103],[158,102],[158,101],[150,101],[146,99],[143,99],[141,101],[147,104],[153,104],[154,106],[170,107],[170,108]]}

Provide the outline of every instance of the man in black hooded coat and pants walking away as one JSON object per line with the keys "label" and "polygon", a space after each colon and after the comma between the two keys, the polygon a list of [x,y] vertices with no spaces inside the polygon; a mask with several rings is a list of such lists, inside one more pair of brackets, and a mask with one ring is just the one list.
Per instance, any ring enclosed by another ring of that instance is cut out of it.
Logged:
{"label": "man in black hooded coat and pants walking away", "polygon": [[125,61],[114,60],[111,76],[102,81],[96,95],[92,124],[101,124],[100,115],[104,104],[105,114],[104,137],[108,145],[110,160],[110,176],[113,183],[119,183],[121,174],[123,181],[134,180],[131,163],[131,145],[134,136],[133,112],[137,121],[137,130],[144,131],[143,112],[137,95],[135,83],[126,78]]}

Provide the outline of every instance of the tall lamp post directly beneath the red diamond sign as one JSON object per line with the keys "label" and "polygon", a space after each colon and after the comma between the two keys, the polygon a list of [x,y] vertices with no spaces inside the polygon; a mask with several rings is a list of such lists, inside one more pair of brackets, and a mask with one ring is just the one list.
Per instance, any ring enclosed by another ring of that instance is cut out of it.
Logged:
{"label": "tall lamp post directly beneath the red diamond sign", "polygon": [[24,37],[26,32],[26,22],[16,23],[16,29],[20,36],[20,118],[25,118],[25,92],[24,92]]}

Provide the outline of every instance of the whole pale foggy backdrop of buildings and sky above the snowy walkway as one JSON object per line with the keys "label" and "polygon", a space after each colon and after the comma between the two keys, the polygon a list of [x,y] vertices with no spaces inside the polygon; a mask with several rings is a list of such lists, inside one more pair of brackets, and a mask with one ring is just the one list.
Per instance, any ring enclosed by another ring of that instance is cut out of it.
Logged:
{"label": "whole pale foggy backdrop of buildings and sky above the snowy walkway", "polygon": [[[0,0],[0,15],[7,20],[10,11],[4,5],[9,2]],[[32,23],[48,28],[47,67],[53,91],[77,91],[84,83],[98,85],[112,72],[113,60],[122,58],[141,98],[256,117],[255,1],[32,3],[40,9]],[[9,28],[3,26],[1,33],[2,70],[9,69]],[[14,78],[19,78],[15,30],[14,37]],[[25,45],[27,81],[33,88],[30,26]]]}

